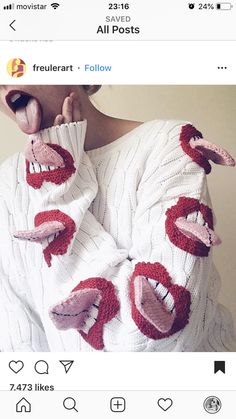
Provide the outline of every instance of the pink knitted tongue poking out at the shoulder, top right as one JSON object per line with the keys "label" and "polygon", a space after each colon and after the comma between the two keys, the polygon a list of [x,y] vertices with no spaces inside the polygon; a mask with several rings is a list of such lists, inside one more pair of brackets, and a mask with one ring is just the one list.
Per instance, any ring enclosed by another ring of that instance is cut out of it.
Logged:
{"label": "pink knitted tongue poking out at the shoulder, top right", "polygon": [[212,160],[214,163],[223,166],[235,166],[233,157],[222,147],[212,144],[204,138],[198,138],[197,140],[192,138],[189,143],[192,148],[200,151],[207,160]]}

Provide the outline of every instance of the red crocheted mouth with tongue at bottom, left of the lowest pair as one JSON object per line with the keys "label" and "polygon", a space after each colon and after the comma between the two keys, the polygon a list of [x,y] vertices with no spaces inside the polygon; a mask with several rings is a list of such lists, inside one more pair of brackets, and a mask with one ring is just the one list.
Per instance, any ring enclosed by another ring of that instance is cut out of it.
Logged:
{"label": "red crocheted mouth with tongue at bottom, left of the lowest pair", "polygon": [[103,328],[119,311],[114,285],[104,278],[81,281],[71,295],[50,309],[57,329],[76,329],[94,349],[104,348]]}

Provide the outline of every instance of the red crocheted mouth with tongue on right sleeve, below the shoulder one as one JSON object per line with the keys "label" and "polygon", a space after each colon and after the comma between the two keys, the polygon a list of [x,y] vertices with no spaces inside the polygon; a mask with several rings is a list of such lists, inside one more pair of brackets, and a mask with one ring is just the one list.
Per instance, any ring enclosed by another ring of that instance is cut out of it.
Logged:
{"label": "red crocheted mouth with tongue on right sleeve, below the shoulder one", "polygon": [[[196,221],[188,220],[189,214],[196,214]],[[208,256],[211,246],[221,243],[211,209],[195,198],[181,197],[168,208],[165,226],[170,241],[195,256]]]}

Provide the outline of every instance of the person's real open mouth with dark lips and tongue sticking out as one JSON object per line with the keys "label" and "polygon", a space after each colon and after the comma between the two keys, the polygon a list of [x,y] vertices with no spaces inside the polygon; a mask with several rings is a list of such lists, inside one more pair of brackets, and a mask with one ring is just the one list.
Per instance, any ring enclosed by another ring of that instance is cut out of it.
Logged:
{"label": "person's real open mouth with dark lips and tongue sticking out", "polygon": [[37,98],[21,90],[12,90],[5,99],[15,113],[19,128],[25,134],[34,134],[40,130],[42,108]]}

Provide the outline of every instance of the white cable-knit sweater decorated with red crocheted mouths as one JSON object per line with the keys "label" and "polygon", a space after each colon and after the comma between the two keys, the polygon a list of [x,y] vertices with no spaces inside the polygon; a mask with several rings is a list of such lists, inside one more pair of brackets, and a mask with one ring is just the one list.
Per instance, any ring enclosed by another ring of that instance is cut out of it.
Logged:
{"label": "white cable-knit sweater decorated with red crocheted mouths", "polygon": [[[47,178],[55,168],[37,162],[26,177],[23,153],[2,164],[1,351],[236,349],[231,316],[217,303],[217,238],[203,217],[205,205],[211,208],[205,170],[180,141],[188,124],[146,122],[87,152],[86,121],[43,130],[41,144],[57,152],[50,145],[59,145],[73,159],[56,181]],[[65,172],[68,166],[74,169]],[[178,239],[167,210],[179,208],[180,197],[180,212],[190,204],[194,210],[179,214],[193,230]],[[51,244],[58,234],[24,240],[35,225],[53,221],[65,229],[59,247]],[[206,227],[200,235],[211,231],[200,255],[194,224]]]}

